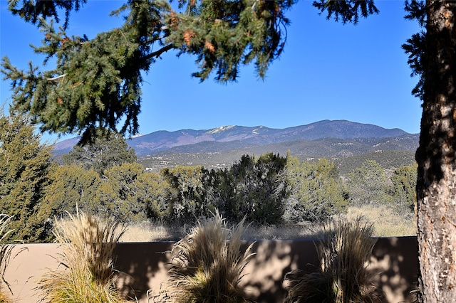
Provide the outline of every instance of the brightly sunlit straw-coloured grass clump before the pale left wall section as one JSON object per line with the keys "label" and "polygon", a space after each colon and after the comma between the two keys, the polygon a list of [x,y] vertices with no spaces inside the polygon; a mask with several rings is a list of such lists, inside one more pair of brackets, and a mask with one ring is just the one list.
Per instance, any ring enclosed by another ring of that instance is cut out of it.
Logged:
{"label": "brightly sunlit straw-coloured grass clump before the pale left wall section", "polygon": [[62,244],[63,270],[50,270],[38,282],[46,302],[128,302],[115,287],[113,250],[123,233],[114,220],[78,212],[58,220],[53,231]]}

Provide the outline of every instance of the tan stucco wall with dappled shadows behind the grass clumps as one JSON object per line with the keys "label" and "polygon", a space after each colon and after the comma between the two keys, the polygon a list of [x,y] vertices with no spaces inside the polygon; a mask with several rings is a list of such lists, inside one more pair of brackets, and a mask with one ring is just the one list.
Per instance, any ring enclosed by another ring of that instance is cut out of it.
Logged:
{"label": "tan stucco wall with dappled shadows behind the grass clumps", "polygon": [[[116,269],[122,290],[134,294],[138,302],[147,302],[149,294],[160,291],[167,278],[166,264],[172,243],[119,243]],[[25,249],[24,249],[25,248]],[[418,270],[418,245],[415,237],[380,238],[373,250],[371,269],[375,285],[381,287],[388,302],[410,302]],[[18,255],[16,252],[21,251]],[[56,244],[16,245],[5,279],[11,285],[16,302],[38,302],[36,281],[48,268],[58,267]],[[245,268],[242,285],[257,302],[282,302],[286,296],[284,275],[290,270],[313,271],[318,265],[311,240],[268,240],[254,245],[254,255]],[[132,289],[135,289],[133,292]],[[150,302],[153,302],[151,299]]]}

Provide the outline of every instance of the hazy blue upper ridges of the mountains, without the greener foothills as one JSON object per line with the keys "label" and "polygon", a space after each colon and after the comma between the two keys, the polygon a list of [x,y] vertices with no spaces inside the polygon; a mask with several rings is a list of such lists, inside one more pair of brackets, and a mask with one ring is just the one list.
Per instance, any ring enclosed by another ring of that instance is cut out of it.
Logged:
{"label": "hazy blue upper ridges of the mountains, without the greener foothills", "polygon": [[[245,149],[283,144],[284,142],[312,141],[318,139],[363,139],[391,138],[408,135],[401,129],[385,129],[373,124],[350,122],[347,120],[322,120],[311,124],[284,129],[264,126],[243,127],[225,125],[212,129],[180,129],[175,132],[158,131],[133,137],[128,145],[135,149],[138,156],[151,155],[160,151],[207,152],[228,149]],[[375,143],[377,140],[374,140]],[[54,145],[55,154],[66,154],[77,140],[63,141]]]}

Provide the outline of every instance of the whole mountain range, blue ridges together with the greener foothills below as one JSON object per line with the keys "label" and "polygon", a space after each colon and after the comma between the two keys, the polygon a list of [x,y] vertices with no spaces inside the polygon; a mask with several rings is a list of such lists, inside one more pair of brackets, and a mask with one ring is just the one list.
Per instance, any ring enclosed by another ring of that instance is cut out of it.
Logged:
{"label": "whole mountain range, blue ridges together with the greener foothills below", "polygon": [[[264,126],[222,126],[213,129],[158,131],[127,139],[138,161],[145,167],[232,164],[242,154],[274,152],[300,159],[328,157],[345,159],[380,151],[408,151],[418,148],[418,134],[402,129],[385,129],[373,124],[346,120],[323,120],[311,124],[273,129]],[[53,146],[56,156],[66,154],[79,138],[66,139]]]}

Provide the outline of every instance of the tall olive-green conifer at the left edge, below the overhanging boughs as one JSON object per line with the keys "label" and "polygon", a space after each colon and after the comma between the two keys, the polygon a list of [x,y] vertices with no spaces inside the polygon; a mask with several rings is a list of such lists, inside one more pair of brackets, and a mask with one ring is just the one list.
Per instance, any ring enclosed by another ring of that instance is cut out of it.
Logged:
{"label": "tall olive-green conifer at the left edge, below the overhanging boughs", "polygon": [[43,203],[52,166],[51,147],[40,143],[26,115],[0,116],[0,209],[11,216],[10,238],[51,239],[51,208]]}

